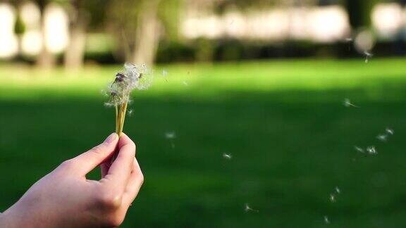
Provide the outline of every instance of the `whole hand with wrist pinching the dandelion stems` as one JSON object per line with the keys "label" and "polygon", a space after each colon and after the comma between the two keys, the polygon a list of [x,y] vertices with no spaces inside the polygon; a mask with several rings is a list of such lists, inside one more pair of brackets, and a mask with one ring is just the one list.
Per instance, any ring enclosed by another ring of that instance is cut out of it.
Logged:
{"label": "whole hand with wrist pinching the dandelion stems", "polygon": [[[110,163],[115,149],[118,156]],[[99,181],[86,174],[101,165]],[[0,227],[118,227],[143,182],[135,144],[113,133],[66,160],[0,215]]]}

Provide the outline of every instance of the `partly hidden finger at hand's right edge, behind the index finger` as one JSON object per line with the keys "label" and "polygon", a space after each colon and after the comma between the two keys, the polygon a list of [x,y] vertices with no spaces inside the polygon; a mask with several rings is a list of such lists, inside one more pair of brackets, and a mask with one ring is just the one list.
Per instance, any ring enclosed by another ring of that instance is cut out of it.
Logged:
{"label": "partly hidden finger at hand's right edge, behind the index finger", "polygon": [[144,175],[142,175],[140,165],[136,158],[133,162],[133,171],[131,172],[130,178],[128,179],[128,184],[125,188],[123,203],[126,206],[130,206],[133,203],[135,197],[137,197],[138,192],[141,189],[142,183],[144,182]]}

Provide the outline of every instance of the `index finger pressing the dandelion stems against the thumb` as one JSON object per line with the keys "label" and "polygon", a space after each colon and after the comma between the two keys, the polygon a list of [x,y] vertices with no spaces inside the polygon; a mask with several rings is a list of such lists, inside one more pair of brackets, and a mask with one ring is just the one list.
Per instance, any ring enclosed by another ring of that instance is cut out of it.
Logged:
{"label": "index finger pressing the dandelion stems against the thumb", "polygon": [[135,144],[126,134],[122,134],[118,141],[118,149],[118,156],[109,167],[109,171],[104,178],[109,179],[114,186],[124,191],[130,178],[131,170],[133,170]]}

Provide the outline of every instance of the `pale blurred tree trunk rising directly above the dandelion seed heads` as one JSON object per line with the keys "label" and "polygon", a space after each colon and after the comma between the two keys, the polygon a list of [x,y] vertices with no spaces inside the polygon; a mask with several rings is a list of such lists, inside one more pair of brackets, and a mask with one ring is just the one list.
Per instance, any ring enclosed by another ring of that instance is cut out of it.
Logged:
{"label": "pale blurred tree trunk rising directly above the dandelion seed heads", "polygon": [[135,45],[130,61],[152,65],[155,60],[160,36],[160,22],[158,19],[158,6],[160,0],[144,1],[140,11]]}

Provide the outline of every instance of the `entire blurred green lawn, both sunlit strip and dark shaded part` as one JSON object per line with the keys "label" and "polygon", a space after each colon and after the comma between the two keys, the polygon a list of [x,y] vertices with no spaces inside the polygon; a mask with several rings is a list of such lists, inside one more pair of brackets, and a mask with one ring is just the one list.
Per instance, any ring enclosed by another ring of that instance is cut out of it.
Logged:
{"label": "entire blurred green lawn, both sunlit strip and dark shaded part", "polygon": [[[405,60],[158,66],[125,123],[145,182],[122,227],[404,226]],[[0,210],[113,131],[99,91],[120,68],[0,65]]]}

